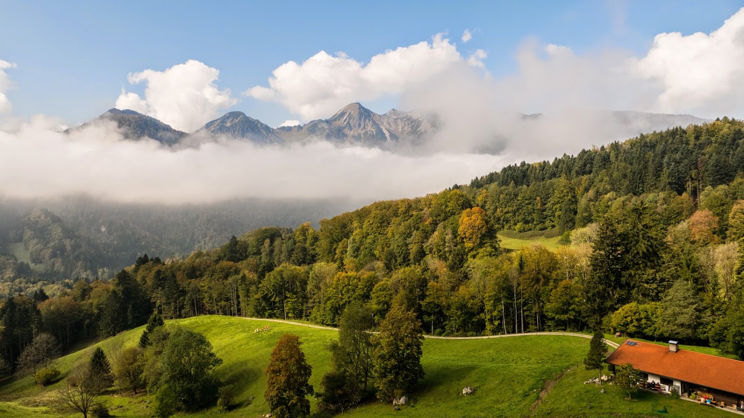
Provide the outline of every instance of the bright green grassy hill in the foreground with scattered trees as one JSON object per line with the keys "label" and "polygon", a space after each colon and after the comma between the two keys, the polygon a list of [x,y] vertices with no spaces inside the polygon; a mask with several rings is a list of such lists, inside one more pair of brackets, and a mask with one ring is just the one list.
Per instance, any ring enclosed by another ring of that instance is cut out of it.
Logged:
{"label": "bright green grassy hill in the foreground with scattered trees", "polygon": [[[225,417],[260,417],[269,412],[263,400],[266,378],[263,370],[269,354],[282,333],[295,333],[301,337],[307,361],[312,365],[310,383],[319,388],[327,372],[330,355],[327,343],[336,338],[336,331],[321,330],[293,324],[247,320],[228,316],[199,316],[168,324],[179,324],[204,333],[214,345],[214,350],[224,362],[217,369],[223,382],[234,389],[238,408]],[[271,330],[254,333],[257,327],[269,325]],[[115,356],[121,347],[136,344],[142,327],[126,331],[100,342],[109,356]],[[65,376],[75,362],[87,360],[92,347],[71,353],[57,361]],[[723,411],[705,408],[692,402],[648,394],[638,401],[627,402],[621,393],[610,390],[600,393],[597,385],[583,385],[593,372],[580,365],[589,339],[570,336],[520,336],[504,339],[426,339],[423,347],[423,367],[426,379],[413,402],[402,411],[393,411],[391,405],[371,402],[362,405],[344,417],[524,417],[533,408],[538,417],[594,417],[655,416],[652,411],[667,406],[674,414],[667,417],[729,417]],[[536,405],[545,382],[558,380],[555,388],[547,392],[547,402]],[[50,388],[39,389],[31,377],[7,379],[0,385],[0,416],[2,417],[53,417],[57,412],[46,407],[51,393],[62,382]],[[472,396],[461,396],[465,386],[475,388]],[[251,401],[251,397],[253,397]],[[150,397],[134,398],[111,393],[106,402],[116,417],[150,417]],[[594,409],[586,408],[592,402]],[[316,400],[312,400],[315,414]],[[536,405],[533,407],[533,405]],[[603,406],[604,409],[598,409]],[[628,405],[630,412],[627,411]],[[190,417],[218,415],[216,408],[191,414]],[[446,414],[446,415],[445,415]],[[676,415],[675,415],[676,414]],[[222,415],[222,414],[220,414]],[[71,415],[73,417],[74,415]],[[317,416],[317,415],[316,415]]]}

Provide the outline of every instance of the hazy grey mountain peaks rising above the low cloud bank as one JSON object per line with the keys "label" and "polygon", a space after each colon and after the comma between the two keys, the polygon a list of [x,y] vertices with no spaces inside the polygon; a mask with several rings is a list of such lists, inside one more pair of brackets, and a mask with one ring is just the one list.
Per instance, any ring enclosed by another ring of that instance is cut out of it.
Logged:
{"label": "hazy grey mountain peaks rising above the low cloud bank", "polygon": [[[625,128],[623,131],[632,135],[708,121],[689,114],[653,114],[637,111],[610,113],[612,120],[623,126]],[[529,123],[539,121],[542,117],[542,114],[523,114],[522,120]],[[426,137],[437,133],[442,124],[440,117],[433,112],[391,109],[388,113],[376,114],[359,103],[351,103],[328,119],[279,128],[272,128],[243,112],[232,111],[212,120],[193,134],[177,131],[153,117],[132,110],[109,109],[96,120],[68,131],[107,120],[115,122],[127,139],[149,137],[166,146],[182,143],[187,137],[195,137],[198,139],[197,142],[203,142],[205,138],[212,140],[227,137],[232,140],[248,140],[260,145],[282,145],[322,139],[333,143],[391,148],[403,143],[414,146],[423,143]]]}

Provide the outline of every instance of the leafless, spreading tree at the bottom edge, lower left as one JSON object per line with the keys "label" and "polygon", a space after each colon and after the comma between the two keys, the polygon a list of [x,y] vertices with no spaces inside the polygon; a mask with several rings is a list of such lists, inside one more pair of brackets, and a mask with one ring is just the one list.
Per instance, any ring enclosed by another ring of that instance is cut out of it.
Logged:
{"label": "leafless, spreading tree at the bottom edge, lower left", "polygon": [[62,409],[80,412],[83,418],[88,418],[102,387],[100,376],[91,373],[88,364],[80,365],[70,372],[67,385],[57,391],[57,401]]}

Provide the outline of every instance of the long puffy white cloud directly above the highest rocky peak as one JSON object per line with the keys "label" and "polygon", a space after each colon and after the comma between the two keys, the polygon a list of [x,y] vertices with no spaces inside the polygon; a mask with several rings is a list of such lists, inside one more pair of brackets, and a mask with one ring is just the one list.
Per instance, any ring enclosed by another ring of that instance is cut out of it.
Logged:
{"label": "long puffy white cloud directly above the highest rocky peak", "polygon": [[432,42],[387,50],[365,65],[337,53],[320,51],[305,62],[286,62],[273,71],[269,87],[244,92],[255,99],[280,102],[302,120],[328,117],[350,102],[364,102],[426,82],[464,62],[454,44],[437,34]]}

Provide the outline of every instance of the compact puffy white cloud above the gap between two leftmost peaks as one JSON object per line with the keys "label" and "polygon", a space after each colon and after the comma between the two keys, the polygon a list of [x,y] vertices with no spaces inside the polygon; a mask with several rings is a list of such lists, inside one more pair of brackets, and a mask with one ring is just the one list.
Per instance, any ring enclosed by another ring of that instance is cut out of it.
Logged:
{"label": "compact puffy white cloud above the gap between two leftmost peaks", "polygon": [[130,83],[147,83],[144,99],[122,89],[115,106],[147,114],[181,131],[196,131],[221,116],[221,109],[237,103],[229,89],[217,87],[218,76],[217,68],[193,59],[165,71],[129,74]]}

